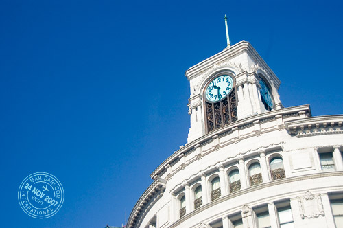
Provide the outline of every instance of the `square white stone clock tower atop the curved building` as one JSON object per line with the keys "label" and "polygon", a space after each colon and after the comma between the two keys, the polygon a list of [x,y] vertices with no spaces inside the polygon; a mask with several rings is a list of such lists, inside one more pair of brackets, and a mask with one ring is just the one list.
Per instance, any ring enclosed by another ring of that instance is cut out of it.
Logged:
{"label": "square white stone clock tower atop the curved building", "polygon": [[283,108],[280,80],[247,41],[189,68],[191,127],[187,142],[252,115]]}

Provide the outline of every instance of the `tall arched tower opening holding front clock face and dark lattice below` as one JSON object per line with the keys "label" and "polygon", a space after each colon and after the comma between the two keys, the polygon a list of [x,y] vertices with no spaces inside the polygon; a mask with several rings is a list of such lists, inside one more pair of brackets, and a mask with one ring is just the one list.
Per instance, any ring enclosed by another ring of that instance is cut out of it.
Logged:
{"label": "tall arched tower opening holding front clock face and dark lattice below", "polygon": [[206,130],[217,128],[237,120],[237,100],[233,76],[222,74],[211,80],[205,87]]}

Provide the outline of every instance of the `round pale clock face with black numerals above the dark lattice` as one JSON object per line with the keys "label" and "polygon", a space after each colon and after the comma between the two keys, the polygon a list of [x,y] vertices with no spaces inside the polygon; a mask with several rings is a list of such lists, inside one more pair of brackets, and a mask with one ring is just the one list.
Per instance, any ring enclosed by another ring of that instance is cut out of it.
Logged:
{"label": "round pale clock face with black numerals above the dark lattice", "polygon": [[219,76],[212,80],[206,88],[206,99],[209,102],[220,101],[233,89],[233,78],[231,76]]}

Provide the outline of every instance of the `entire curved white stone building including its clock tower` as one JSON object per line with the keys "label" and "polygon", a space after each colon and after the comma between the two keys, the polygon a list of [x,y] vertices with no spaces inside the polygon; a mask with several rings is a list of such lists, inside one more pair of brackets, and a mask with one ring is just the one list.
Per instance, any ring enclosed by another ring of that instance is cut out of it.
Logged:
{"label": "entire curved white stone building including its clock tower", "polygon": [[187,144],[152,172],[128,228],[343,227],[343,115],[283,107],[246,41],[185,74]]}

